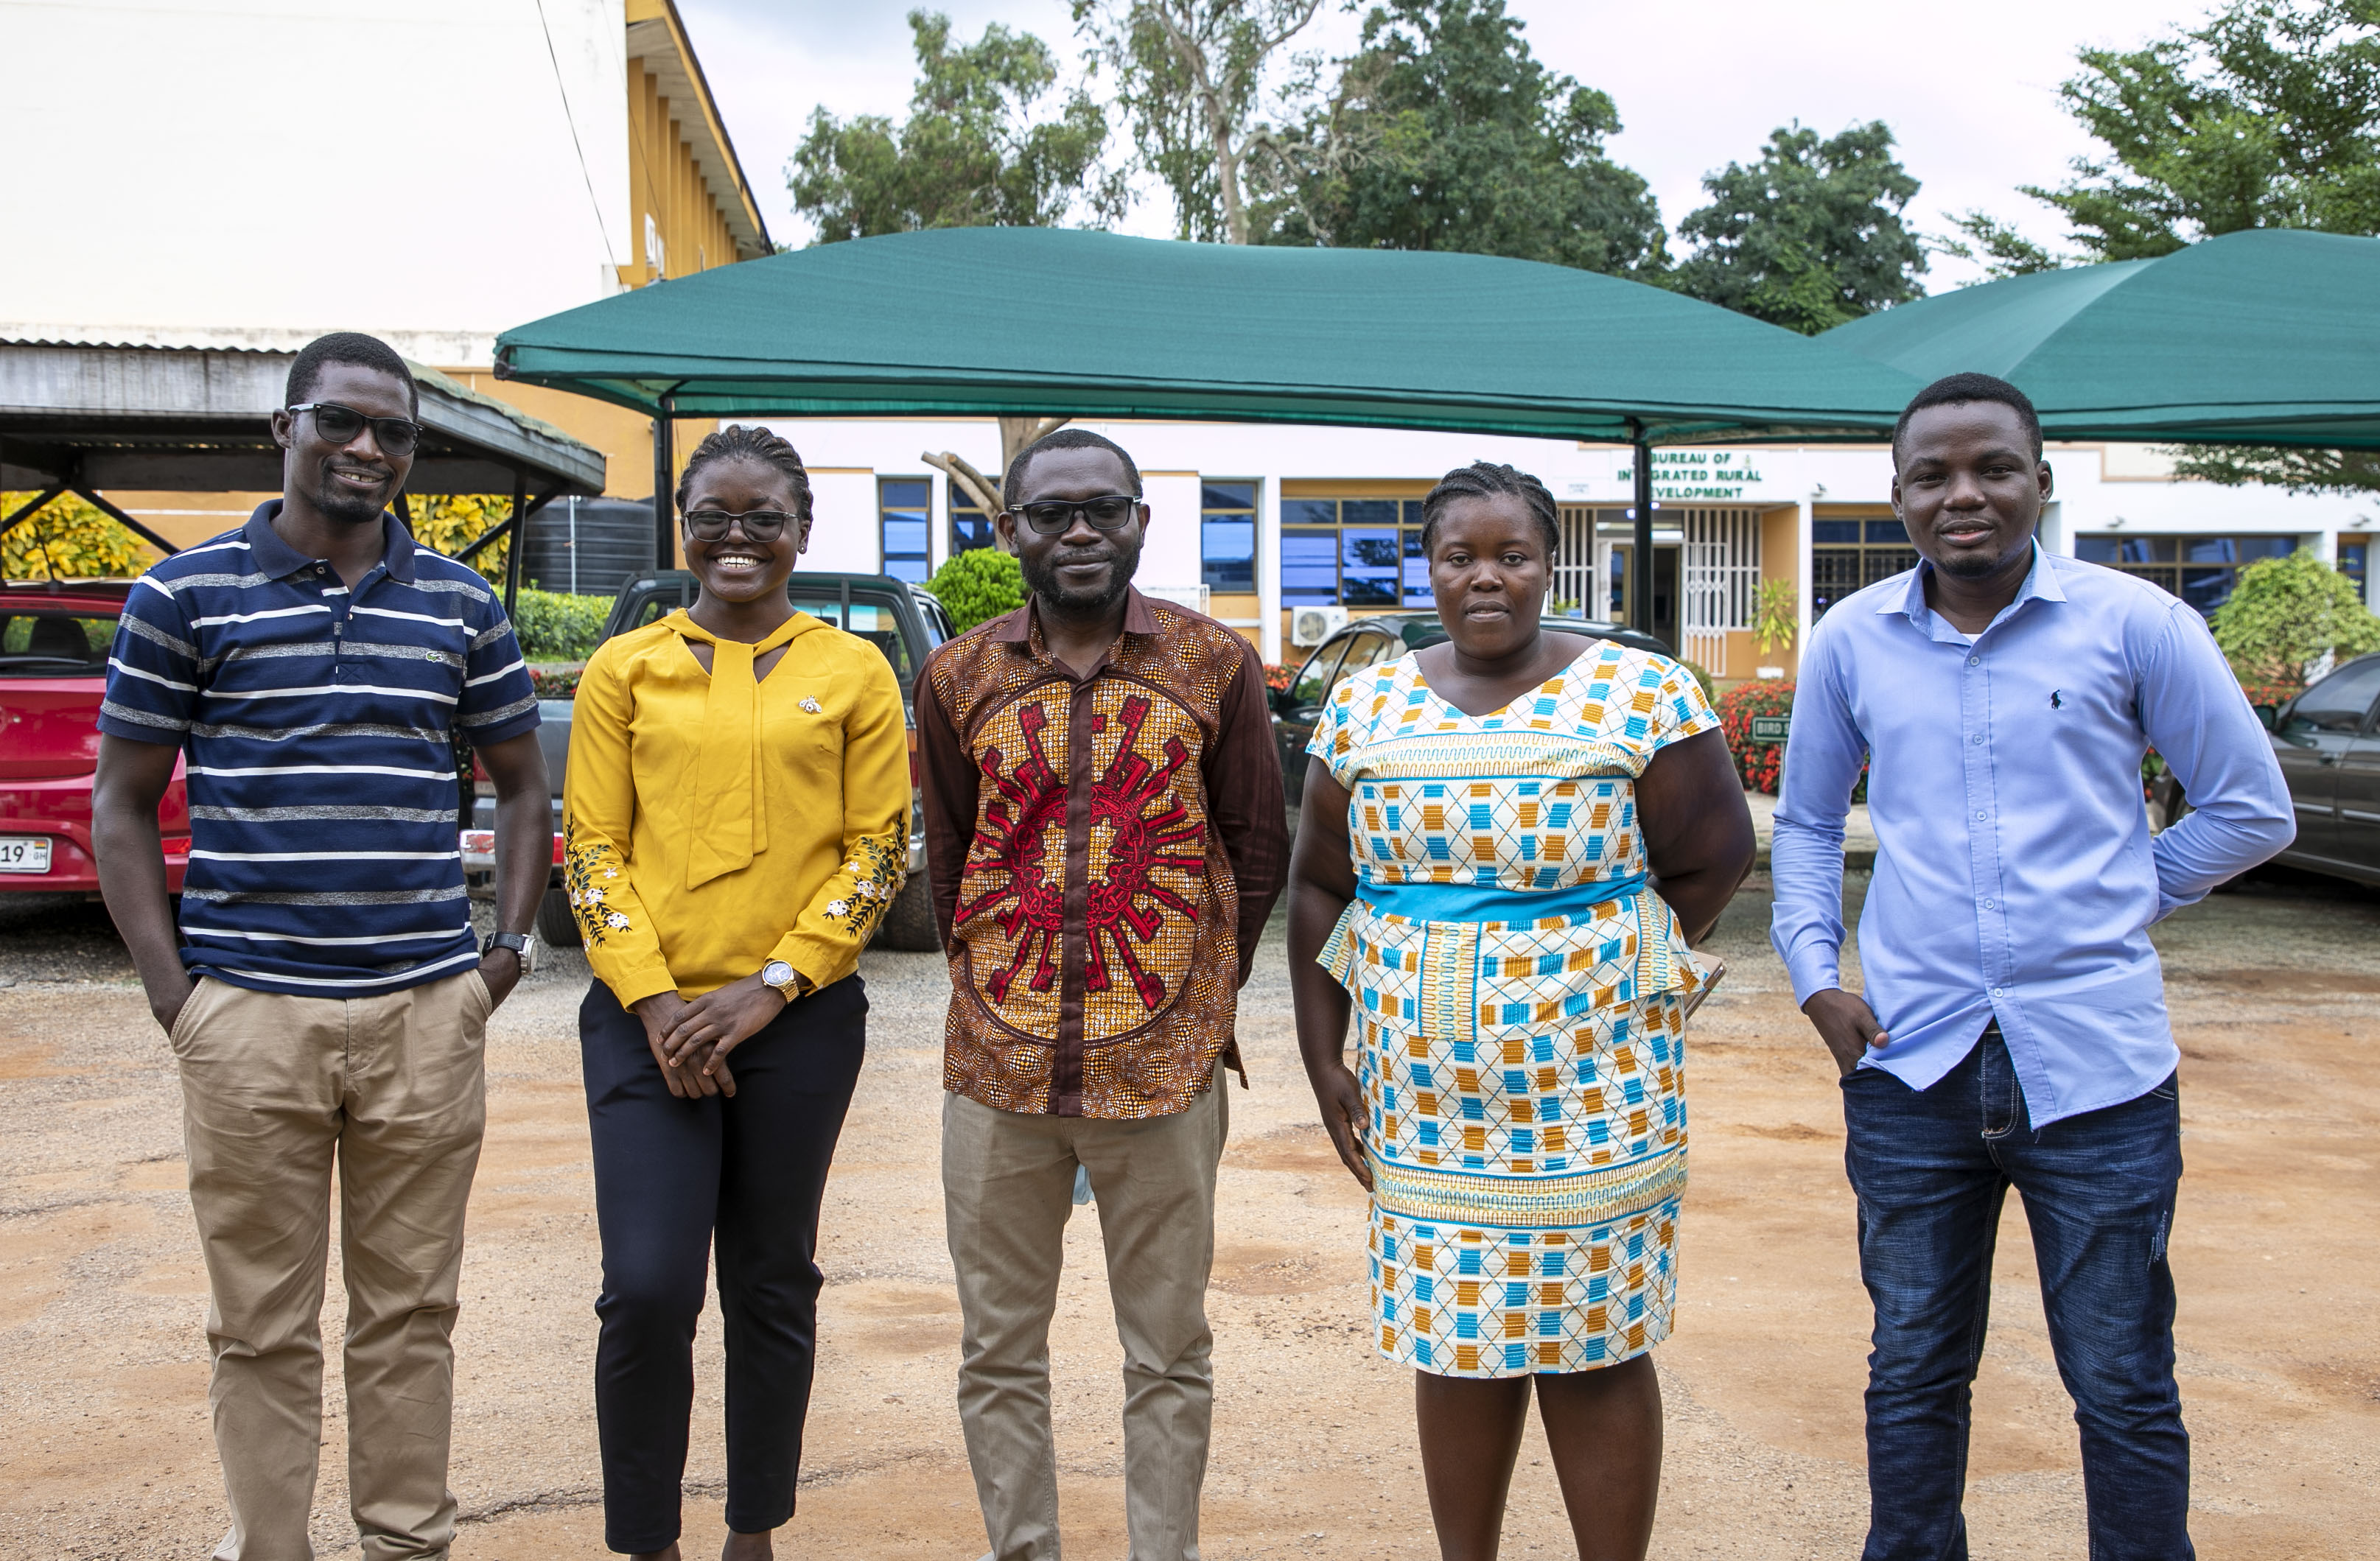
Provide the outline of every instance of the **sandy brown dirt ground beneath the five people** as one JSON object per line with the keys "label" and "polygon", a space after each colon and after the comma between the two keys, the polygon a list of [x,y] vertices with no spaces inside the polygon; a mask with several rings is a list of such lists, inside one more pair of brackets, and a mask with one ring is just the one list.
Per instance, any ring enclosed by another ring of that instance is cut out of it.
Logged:
{"label": "sandy brown dirt ground beneath the five people", "polygon": [[[1859,878],[1854,876],[1854,885]],[[1692,1190],[1656,1556],[1854,1556],[1868,1306],[1833,1068],[1768,954],[1766,878],[1716,947],[1692,1028]],[[2311,878],[2218,895],[2159,947],[2182,1042],[2187,1178],[2173,1237],[2180,1371],[2209,1561],[2380,1556],[2380,895]],[[781,1556],[983,1551],[952,1409],[959,1316],[935,1173],[945,978],[871,954],[871,1057],[826,1199],[819,1390]],[[562,957],[495,1016],[488,1147],[464,1268],[457,1559],[600,1556],[590,1409],[595,1216]],[[1278,923],[1242,999],[1254,1090],[1223,1164],[1216,1425],[1204,1549],[1435,1556],[1409,1375],[1366,1347],[1364,1202],[1297,1068]],[[1097,1209],[1069,1233],[1052,1340],[1076,1556],[1121,1556],[1119,1347]],[[333,1261],[326,1335],[338,1337]],[[207,1437],[205,1283],[164,1037],[95,907],[0,911],[0,1549],[205,1556],[224,1530]],[[2075,1430],[2023,1211],[1999,1237],[1975,1392],[1978,1556],[2080,1559]],[[719,1330],[702,1335],[688,1556],[721,1532]],[[355,1556],[338,1361],[314,1537]],[[1530,1433],[1507,1554],[1568,1554]]]}

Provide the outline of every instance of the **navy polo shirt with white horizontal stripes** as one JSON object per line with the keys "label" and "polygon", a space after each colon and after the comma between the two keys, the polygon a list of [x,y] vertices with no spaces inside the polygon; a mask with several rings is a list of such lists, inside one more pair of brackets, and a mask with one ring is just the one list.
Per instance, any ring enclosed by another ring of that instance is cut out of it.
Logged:
{"label": "navy polo shirt with white horizontal stripes", "polygon": [[471,569],[388,550],[338,571],[248,526],[133,585],[100,731],[186,750],[181,961],[259,992],[371,997],[478,964],[455,747],[538,726],[505,604]]}

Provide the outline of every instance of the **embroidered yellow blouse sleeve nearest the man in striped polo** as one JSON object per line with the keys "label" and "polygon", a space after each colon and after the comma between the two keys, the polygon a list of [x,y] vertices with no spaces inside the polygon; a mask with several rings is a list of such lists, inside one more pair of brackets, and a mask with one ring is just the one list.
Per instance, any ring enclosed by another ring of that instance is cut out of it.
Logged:
{"label": "embroidered yellow blouse sleeve nearest the man in striped polo", "polygon": [[633,1004],[678,983],[635,895],[628,838],[635,778],[628,769],[631,695],[602,652],[578,678],[571,761],[562,797],[562,888],[585,933],[588,964],[619,1002]]}

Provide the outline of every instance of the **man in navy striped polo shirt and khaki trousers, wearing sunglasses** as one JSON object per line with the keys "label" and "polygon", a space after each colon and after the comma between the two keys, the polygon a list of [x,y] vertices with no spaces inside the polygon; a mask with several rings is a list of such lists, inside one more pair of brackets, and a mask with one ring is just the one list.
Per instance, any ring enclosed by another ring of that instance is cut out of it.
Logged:
{"label": "man in navy striped polo shirt and khaki trousers, wearing sunglasses", "polygon": [[[124,604],[93,842],[181,1064],[231,1499],[214,1554],[314,1554],[336,1156],[350,1506],[371,1561],[445,1556],[481,1040],[521,978],[552,850],[538,700],[488,583],[386,514],[421,433],[405,359],[326,336],[286,402],[281,500],[157,564]],[[509,933],[488,949],[457,852],[457,731],[497,790]],[[181,754],[176,928],[157,802]]]}

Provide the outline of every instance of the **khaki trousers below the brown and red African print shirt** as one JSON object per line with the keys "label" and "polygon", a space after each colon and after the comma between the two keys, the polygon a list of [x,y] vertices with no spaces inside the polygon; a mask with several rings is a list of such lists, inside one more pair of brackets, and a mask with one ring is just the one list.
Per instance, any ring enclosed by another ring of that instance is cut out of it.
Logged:
{"label": "khaki trousers below the brown and red African print shirt", "polygon": [[1230,1111],[1216,1080],[1178,1116],[1097,1121],[942,1097],[942,1206],[959,1271],[959,1425],[997,1561],[1057,1561],[1050,1316],[1090,1171],[1123,1340],[1123,1518],[1133,1561],[1197,1561],[1214,1421],[1214,1176]]}

